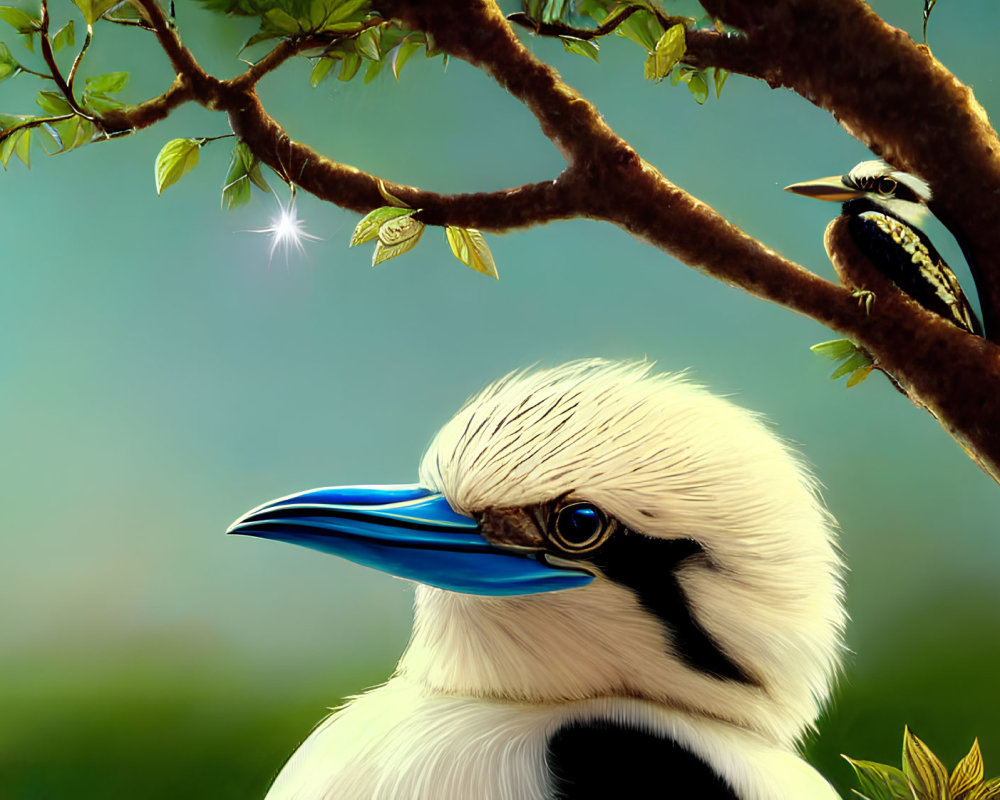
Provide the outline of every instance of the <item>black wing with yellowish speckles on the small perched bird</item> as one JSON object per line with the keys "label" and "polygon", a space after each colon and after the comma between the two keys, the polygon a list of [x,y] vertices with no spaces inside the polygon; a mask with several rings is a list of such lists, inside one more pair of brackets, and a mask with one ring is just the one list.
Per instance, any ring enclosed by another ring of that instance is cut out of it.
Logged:
{"label": "black wing with yellowish speckles on the small perched bird", "polygon": [[863,201],[846,203],[844,212],[851,237],[883,275],[927,310],[982,335],[958,278],[923,231]]}

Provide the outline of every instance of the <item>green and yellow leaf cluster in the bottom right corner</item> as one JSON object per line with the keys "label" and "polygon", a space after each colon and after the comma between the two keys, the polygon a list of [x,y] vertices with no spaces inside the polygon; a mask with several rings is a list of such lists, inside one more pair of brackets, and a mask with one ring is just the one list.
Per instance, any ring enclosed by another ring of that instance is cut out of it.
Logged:
{"label": "green and yellow leaf cluster in the bottom right corner", "polygon": [[903,731],[903,768],[848,758],[858,777],[862,800],[998,800],[1000,777],[983,778],[979,740],[949,775],[941,760],[914,736]]}

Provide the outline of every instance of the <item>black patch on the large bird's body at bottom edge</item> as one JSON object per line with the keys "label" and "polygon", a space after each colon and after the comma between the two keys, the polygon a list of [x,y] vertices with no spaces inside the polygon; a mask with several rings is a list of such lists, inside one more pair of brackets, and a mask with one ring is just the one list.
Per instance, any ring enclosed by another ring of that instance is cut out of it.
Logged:
{"label": "black patch on the large bird's body at bottom edge", "polygon": [[739,800],[711,767],[676,742],[609,720],[573,723],[549,739],[549,800]]}

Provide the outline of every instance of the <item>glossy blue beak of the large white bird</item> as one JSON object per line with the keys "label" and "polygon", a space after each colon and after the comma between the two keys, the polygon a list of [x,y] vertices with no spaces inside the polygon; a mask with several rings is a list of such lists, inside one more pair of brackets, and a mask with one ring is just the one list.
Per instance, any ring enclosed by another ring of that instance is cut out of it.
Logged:
{"label": "glossy blue beak of the large white bird", "polygon": [[537,594],[593,580],[550,567],[531,550],[491,544],[474,519],[420,486],[313,489],[258,506],[228,533],[290,542],[464,594]]}

